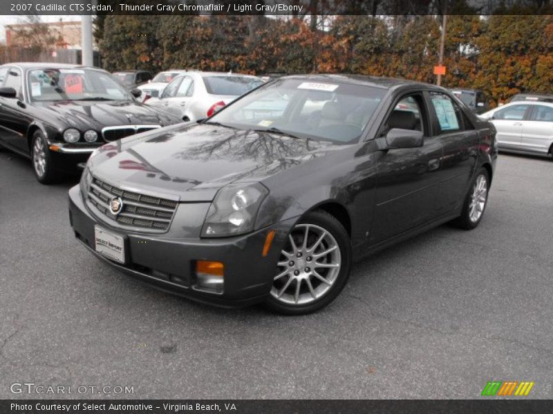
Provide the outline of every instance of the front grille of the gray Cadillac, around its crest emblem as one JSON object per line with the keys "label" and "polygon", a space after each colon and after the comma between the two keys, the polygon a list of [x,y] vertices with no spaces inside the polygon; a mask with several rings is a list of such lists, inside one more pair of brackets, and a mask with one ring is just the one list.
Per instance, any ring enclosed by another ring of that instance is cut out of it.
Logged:
{"label": "front grille of the gray Cadillac, around its crest emblem", "polygon": [[[118,215],[113,215],[109,209],[114,197],[120,197],[123,201]],[[152,230],[168,230],[177,208],[176,201],[122,190],[95,177],[88,187],[88,201],[100,213],[122,226]]]}

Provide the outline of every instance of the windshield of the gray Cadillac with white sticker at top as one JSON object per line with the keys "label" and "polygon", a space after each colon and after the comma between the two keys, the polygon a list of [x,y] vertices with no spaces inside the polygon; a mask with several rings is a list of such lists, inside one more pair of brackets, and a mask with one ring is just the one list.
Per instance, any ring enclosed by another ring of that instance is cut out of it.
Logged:
{"label": "windshield of the gray Cadillac with white sticker at top", "polygon": [[208,122],[335,144],[359,140],[386,94],[382,88],[279,79],[223,108]]}

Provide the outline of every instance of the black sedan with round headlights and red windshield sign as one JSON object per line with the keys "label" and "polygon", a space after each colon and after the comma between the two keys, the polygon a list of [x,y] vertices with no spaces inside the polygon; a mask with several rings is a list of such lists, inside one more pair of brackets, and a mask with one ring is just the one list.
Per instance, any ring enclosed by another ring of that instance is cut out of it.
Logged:
{"label": "black sedan with round headlights and red windshield sign", "polygon": [[[134,96],[133,96],[134,95]],[[181,122],[142,105],[108,72],[60,63],[0,66],[0,146],[56,181],[108,141]]]}

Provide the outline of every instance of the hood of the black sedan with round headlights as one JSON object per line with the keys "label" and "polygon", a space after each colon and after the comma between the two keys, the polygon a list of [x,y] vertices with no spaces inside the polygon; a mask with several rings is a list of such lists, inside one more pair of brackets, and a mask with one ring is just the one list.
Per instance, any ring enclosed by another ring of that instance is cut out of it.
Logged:
{"label": "hood of the black sedan with round headlights", "polygon": [[104,126],[174,124],[149,106],[133,101],[59,101],[33,103],[66,128],[101,130]]}

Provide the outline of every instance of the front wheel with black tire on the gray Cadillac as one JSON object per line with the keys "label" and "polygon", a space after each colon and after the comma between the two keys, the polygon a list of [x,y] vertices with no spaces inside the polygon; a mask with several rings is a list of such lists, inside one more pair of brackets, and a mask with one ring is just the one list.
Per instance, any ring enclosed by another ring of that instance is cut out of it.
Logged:
{"label": "front wheel with black tire on the gray Cadillac", "polygon": [[348,233],[322,210],[306,214],[288,235],[266,306],[304,315],[330,304],[346,286],[352,262]]}

